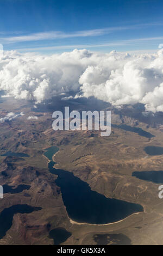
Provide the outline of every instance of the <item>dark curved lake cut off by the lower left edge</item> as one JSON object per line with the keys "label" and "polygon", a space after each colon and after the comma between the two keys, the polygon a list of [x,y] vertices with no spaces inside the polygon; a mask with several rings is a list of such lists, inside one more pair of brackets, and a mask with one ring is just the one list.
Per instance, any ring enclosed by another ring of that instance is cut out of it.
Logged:
{"label": "dark curved lake cut off by the lower left edge", "polygon": [[39,211],[41,209],[40,207],[33,207],[27,204],[17,204],[4,209],[0,214],[0,239],[11,228],[14,214],[30,214],[33,211]]}

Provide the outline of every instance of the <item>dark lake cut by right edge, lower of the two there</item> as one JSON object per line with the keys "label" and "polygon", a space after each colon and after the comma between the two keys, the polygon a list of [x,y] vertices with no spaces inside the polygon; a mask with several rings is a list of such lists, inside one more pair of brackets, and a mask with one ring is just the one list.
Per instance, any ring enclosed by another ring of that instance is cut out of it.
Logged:
{"label": "dark lake cut by right edge, lower of the two there", "polygon": [[152,181],[157,184],[163,183],[163,170],[149,170],[146,172],[133,172],[132,176],[135,176],[140,180]]}

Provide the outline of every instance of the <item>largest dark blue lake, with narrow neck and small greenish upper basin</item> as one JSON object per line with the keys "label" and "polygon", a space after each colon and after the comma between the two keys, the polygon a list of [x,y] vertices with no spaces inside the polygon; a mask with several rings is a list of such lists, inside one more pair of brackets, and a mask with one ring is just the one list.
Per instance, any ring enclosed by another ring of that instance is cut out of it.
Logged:
{"label": "largest dark blue lake, with narrow neck and small greenish upper basin", "polygon": [[[56,147],[46,149],[45,155],[49,160],[52,160],[52,150],[55,154],[59,149]],[[143,211],[140,204],[106,198],[102,194],[92,191],[89,184],[71,172],[55,169],[54,164],[53,161],[49,162],[48,168],[52,174],[58,175],[55,183],[61,189],[68,216],[73,221],[106,224],[120,221],[135,212]]]}

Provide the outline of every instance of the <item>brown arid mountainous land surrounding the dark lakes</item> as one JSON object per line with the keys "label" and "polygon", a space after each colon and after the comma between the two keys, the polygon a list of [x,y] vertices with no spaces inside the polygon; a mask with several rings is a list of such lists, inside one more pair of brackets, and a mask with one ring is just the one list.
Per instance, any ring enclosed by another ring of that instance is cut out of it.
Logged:
{"label": "brown arid mountainous land surrounding the dark lakes", "polygon": [[[100,131],[54,131],[52,112],[63,109],[65,102],[53,100],[54,104],[46,102],[35,109],[29,102],[8,98],[0,104],[2,116],[11,111],[23,112],[0,124],[0,185],[8,185],[0,199],[0,221],[4,210],[14,205],[39,208],[13,214],[11,227],[0,244],[53,245],[52,230],[58,228],[64,234],[68,232],[66,240],[60,241],[63,245],[96,245],[104,241],[110,244],[114,237],[122,244],[162,244],[163,201],[158,197],[159,185],[132,175],[135,171],[163,168],[163,155],[149,155],[145,150],[163,147],[162,114],[146,113],[142,105],[117,109],[101,101],[95,105],[93,99],[87,105],[85,99],[74,101],[76,104],[67,101],[71,109],[79,111],[86,106],[87,110],[111,111],[111,135],[101,137]],[[106,198],[140,204],[143,212],[105,225],[72,221],[56,182],[58,176],[49,172],[49,160],[43,155],[52,146],[59,148],[53,157],[55,168],[73,173]]]}

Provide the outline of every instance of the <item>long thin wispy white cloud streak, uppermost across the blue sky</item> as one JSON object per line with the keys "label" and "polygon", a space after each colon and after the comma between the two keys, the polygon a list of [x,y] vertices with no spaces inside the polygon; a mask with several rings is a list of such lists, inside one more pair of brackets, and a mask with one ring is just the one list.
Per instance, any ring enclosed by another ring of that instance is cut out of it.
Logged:
{"label": "long thin wispy white cloud streak, uppermost across the blue sky", "polygon": [[119,26],[119,27],[109,27],[101,29],[91,29],[85,31],[76,31],[72,33],[65,33],[61,31],[48,31],[40,33],[32,33],[27,35],[16,35],[16,36],[3,36],[0,37],[2,43],[14,43],[14,42],[23,42],[23,41],[40,41],[40,40],[52,40],[52,39],[66,39],[66,38],[80,38],[87,36],[100,36],[104,34],[113,33],[116,31],[125,31],[125,30],[134,30],[141,29],[150,26],[161,26],[162,23],[144,23],[139,25],[131,26]]}

